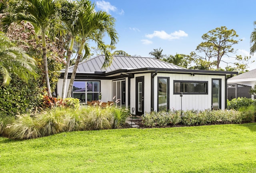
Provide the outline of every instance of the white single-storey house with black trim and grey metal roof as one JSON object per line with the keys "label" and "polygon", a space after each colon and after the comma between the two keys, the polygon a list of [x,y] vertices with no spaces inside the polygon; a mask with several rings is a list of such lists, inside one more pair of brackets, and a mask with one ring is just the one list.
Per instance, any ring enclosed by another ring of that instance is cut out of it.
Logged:
{"label": "white single-storey house with black trim and grey metal roof", "polygon": [[[225,109],[226,76],[237,72],[188,70],[155,58],[114,56],[101,69],[105,56],[90,58],[78,65],[72,97],[81,102],[117,101],[134,114],[166,109]],[[68,84],[73,66],[69,68]],[[57,93],[62,93],[64,70]],[[183,93],[182,103],[180,93]]]}

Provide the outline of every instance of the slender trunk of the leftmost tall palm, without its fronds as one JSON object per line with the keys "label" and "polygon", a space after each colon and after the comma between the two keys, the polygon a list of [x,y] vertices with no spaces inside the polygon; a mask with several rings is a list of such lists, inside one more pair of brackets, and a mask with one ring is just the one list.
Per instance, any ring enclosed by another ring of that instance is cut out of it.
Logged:
{"label": "slender trunk of the leftmost tall palm, without its fronds", "polygon": [[48,96],[51,98],[51,87],[50,87],[50,80],[49,80],[49,74],[48,74],[48,65],[47,65],[47,56],[46,56],[46,40],[45,40],[45,32],[42,31],[42,51],[43,51],[43,63],[44,63],[44,76],[46,81],[46,87]]}

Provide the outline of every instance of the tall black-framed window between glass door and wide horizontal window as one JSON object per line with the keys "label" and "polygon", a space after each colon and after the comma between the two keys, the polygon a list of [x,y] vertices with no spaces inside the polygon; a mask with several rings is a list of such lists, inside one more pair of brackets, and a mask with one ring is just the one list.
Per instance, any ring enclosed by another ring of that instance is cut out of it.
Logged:
{"label": "tall black-framed window between glass door and wide horizontal window", "polygon": [[158,111],[169,109],[169,78],[158,77]]}

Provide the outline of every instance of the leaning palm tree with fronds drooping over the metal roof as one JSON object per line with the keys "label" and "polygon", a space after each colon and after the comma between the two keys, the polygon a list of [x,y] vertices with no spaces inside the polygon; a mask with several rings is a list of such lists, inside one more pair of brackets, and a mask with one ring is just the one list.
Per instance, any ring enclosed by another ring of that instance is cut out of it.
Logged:
{"label": "leaning palm tree with fronds drooping over the metal roof", "polygon": [[105,60],[102,68],[108,67],[112,62],[112,55],[107,49],[107,45],[104,44],[104,42],[102,41],[105,33],[108,34],[111,40],[110,45],[114,45],[118,41],[118,34],[116,33],[116,30],[114,28],[115,19],[113,17],[111,17],[104,11],[96,12],[94,10],[95,5],[91,4],[91,2],[88,0],[80,0],[78,3],[86,10],[80,12],[77,15],[77,27],[79,30],[78,34],[81,38],[81,41],[78,50],[78,56],[76,58],[76,63],[74,65],[72,76],[70,78],[67,97],[70,97],[74,79],[76,76],[76,69],[80,62],[83,51],[85,50],[84,58],[88,57],[88,55],[90,54],[88,41],[93,40],[94,42],[96,42],[98,48],[100,48],[104,52]]}

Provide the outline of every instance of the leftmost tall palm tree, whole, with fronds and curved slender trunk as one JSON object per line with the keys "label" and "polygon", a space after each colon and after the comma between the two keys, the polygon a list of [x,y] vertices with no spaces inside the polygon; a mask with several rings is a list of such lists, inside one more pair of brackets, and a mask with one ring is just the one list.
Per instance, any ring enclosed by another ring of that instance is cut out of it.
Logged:
{"label": "leftmost tall palm tree, whole, with fronds and curved slender trunk", "polygon": [[49,97],[52,97],[52,93],[46,56],[46,32],[55,19],[58,19],[58,10],[54,0],[17,0],[12,4],[11,13],[2,20],[3,28],[8,28],[12,22],[20,22],[22,20],[31,22],[40,28],[44,76]]}

